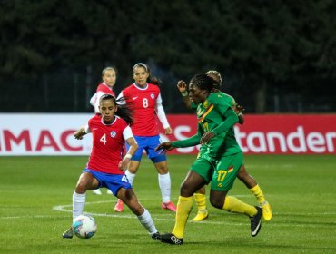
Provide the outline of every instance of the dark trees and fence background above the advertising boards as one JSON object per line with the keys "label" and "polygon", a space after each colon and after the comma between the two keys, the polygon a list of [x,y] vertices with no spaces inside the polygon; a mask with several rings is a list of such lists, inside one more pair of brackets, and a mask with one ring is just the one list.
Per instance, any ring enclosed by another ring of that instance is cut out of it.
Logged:
{"label": "dark trees and fence background above the advertising boards", "polygon": [[246,112],[336,112],[333,0],[0,0],[0,34],[0,112],[93,112],[104,67],[118,94],[138,62],[167,113],[210,69]]}

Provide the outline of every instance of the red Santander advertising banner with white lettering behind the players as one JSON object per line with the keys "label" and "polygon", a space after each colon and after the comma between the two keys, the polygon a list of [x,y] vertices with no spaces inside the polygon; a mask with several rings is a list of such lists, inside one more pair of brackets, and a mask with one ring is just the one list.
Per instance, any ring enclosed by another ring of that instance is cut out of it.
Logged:
{"label": "red Santander advertising banner with white lettering behind the players", "polygon": [[[174,130],[170,140],[181,140],[197,131],[194,115],[169,115],[168,120]],[[234,131],[247,154],[336,153],[336,114],[245,115],[244,124],[236,124]],[[174,152],[196,153],[197,149]]]}

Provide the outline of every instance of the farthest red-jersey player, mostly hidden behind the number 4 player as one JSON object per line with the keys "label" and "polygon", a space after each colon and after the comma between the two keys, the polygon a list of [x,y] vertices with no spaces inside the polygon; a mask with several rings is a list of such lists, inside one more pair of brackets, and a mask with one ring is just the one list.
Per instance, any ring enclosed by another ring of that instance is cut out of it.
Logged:
{"label": "farthest red-jersey player, mostly hidden behind the number 4 player", "polygon": [[106,67],[104,68],[102,72],[102,80],[103,82],[98,84],[97,90],[94,93],[94,95],[90,99],[91,105],[94,106],[94,112],[95,113],[100,113],[99,112],[99,99],[102,97],[103,94],[111,94],[114,95],[114,84],[116,81],[116,69],[115,67]]}

